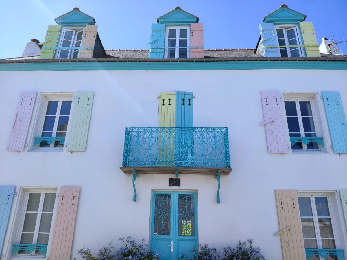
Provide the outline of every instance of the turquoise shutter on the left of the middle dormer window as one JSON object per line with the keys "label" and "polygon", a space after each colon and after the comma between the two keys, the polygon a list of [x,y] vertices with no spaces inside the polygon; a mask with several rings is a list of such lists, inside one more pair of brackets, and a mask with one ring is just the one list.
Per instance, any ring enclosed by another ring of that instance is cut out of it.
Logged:
{"label": "turquoise shutter on the left of the middle dormer window", "polygon": [[148,44],[150,45],[150,59],[164,58],[164,49],[157,49],[153,47],[164,47],[165,24],[152,24],[151,41]]}

